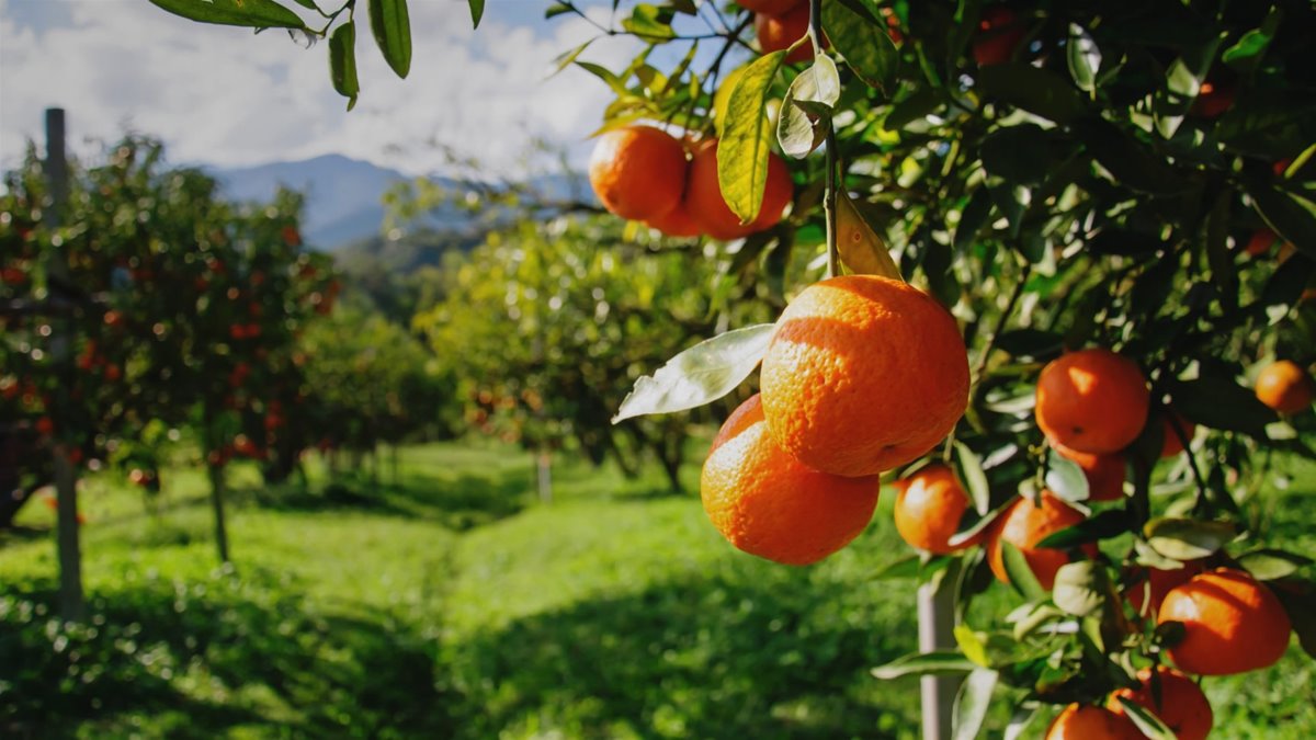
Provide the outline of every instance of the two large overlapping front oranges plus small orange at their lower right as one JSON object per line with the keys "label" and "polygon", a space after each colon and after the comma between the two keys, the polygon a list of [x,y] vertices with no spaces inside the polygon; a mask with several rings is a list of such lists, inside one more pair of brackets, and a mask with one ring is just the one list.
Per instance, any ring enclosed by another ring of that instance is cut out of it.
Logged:
{"label": "two large overlapping front oranges plus small orange at their lower right", "polygon": [[[803,565],[863,531],[879,473],[950,432],[969,400],[969,361],[955,320],[932,298],[846,275],[809,286],[782,313],[761,388],[713,440],[700,496],[733,545]],[[949,470],[924,469],[900,498],[909,536],[948,548],[966,506]]]}

